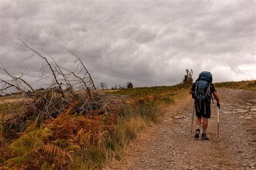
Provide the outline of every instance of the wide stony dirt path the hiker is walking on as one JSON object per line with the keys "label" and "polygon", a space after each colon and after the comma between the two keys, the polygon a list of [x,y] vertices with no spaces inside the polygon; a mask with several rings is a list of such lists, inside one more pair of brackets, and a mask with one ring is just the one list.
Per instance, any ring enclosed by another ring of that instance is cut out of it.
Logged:
{"label": "wide stony dirt path the hiker is walking on", "polygon": [[256,92],[221,89],[218,93],[221,100],[219,139],[215,104],[207,130],[210,141],[193,138],[196,118],[191,134],[193,101],[189,97],[170,105],[161,124],[134,141],[127,158],[115,168],[255,168]]}

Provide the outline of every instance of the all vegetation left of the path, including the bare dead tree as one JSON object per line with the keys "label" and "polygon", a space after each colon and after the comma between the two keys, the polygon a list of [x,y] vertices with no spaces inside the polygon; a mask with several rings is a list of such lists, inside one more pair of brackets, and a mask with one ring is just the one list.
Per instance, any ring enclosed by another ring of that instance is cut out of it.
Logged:
{"label": "all vegetation left of the path, including the bare dead tree", "polygon": [[[186,81],[175,86],[98,90],[82,60],[70,52],[73,70],[45,52],[36,89],[3,64],[0,79],[0,167],[11,169],[101,169],[122,159],[124,148],[159,121],[161,108],[187,96]],[[46,84],[49,82],[49,84]],[[191,84],[191,82],[190,82]],[[15,96],[18,94],[18,96]]]}

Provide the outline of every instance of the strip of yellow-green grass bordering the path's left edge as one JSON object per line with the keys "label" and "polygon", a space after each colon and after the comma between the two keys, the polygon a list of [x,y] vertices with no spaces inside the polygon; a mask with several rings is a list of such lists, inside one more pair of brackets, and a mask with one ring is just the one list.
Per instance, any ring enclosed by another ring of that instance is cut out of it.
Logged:
{"label": "strip of yellow-green grass bordering the path's left edge", "polygon": [[[107,132],[107,138],[99,147],[87,146],[74,157],[71,169],[104,168],[113,159],[121,160],[125,146],[136,139],[139,133],[158,123],[161,108],[187,96],[187,89],[181,85],[160,87],[139,87],[112,94],[128,95],[128,105],[118,113],[116,131]],[[130,94],[130,95],[129,95]]]}

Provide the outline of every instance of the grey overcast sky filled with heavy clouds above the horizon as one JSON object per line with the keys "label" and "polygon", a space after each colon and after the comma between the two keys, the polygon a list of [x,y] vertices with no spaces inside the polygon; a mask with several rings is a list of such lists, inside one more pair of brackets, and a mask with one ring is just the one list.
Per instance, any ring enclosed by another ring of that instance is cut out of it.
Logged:
{"label": "grey overcast sky filled with heavy clouds above the horizon", "polygon": [[[38,78],[32,48],[61,64],[67,47],[96,82],[109,87],[173,85],[185,69],[213,81],[256,79],[256,1],[4,1],[0,0],[0,63]],[[1,75],[0,75],[1,76]]]}

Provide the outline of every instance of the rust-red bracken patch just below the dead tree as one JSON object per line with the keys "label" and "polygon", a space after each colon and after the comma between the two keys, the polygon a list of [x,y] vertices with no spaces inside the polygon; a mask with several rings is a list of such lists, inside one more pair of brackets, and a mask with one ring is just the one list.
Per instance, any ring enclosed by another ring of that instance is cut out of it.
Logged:
{"label": "rust-red bracken patch just below the dead tree", "polygon": [[[91,111],[86,116],[76,113],[73,108],[77,103],[70,105],[65,113],[51,120],[45,128],[52,130],[53,140],[66,140],[69,146],[86,144],[100,145],[107,135],[107,131],[114,131],[117,119],[116,113],[105,112],[98,115],[100,111]],[[71,114],[72,113],[72,114]]]}

